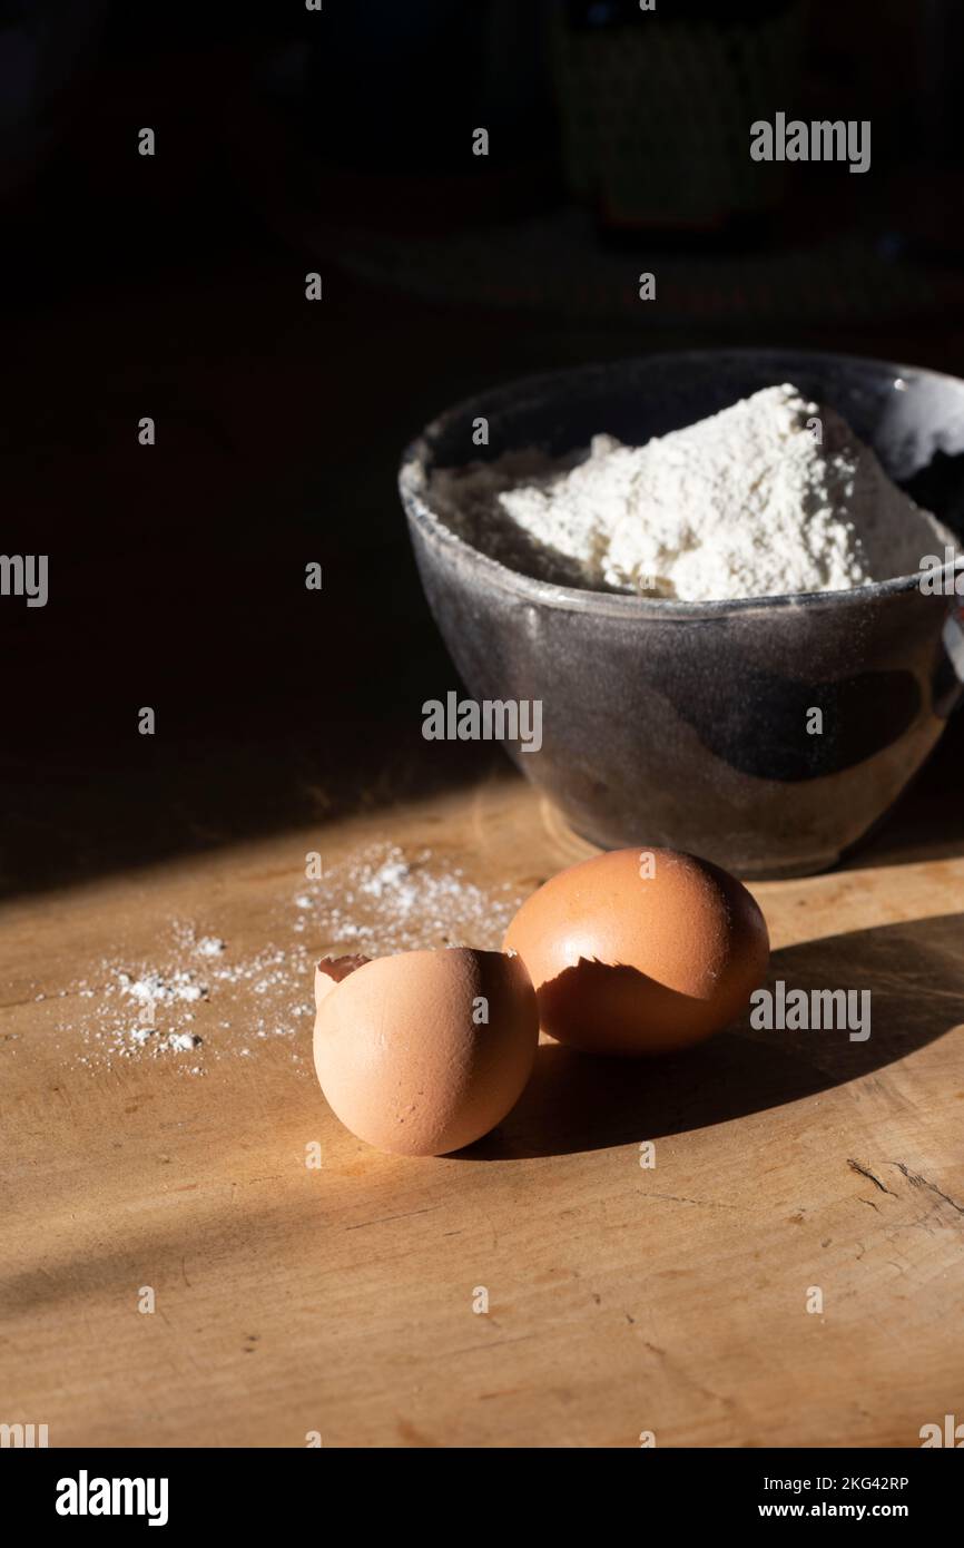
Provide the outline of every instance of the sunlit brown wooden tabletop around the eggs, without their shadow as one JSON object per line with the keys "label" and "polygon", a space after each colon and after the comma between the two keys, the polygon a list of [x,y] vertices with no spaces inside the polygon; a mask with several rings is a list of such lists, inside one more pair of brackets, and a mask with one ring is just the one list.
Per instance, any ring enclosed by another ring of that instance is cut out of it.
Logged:
{"label": "sunlit brown wooden tabletop around the eggs, without their shadow", "polygon": [[[470,889],[495,946],[590,848],[506,774],[5,909],[0,1421],[610,1447],[918,1446],[964,1418],[964,859],[754,885],[774,978],[870,988],[868,1042],[545,1046],[500,1130],[412,1161],[340,1127],[309,1053],[311,960],[391,935],[353,856],[395,851],[430,882],[401,889],[407,938],[458,933]],[[145,971],[170,998],[138,1034]]]}

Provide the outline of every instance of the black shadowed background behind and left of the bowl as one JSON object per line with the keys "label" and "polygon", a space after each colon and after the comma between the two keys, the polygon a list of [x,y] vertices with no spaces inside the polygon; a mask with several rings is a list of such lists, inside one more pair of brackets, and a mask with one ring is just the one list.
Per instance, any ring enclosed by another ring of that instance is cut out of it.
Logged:
{"label": "black shadowed background behind and left of the bowl", "polygon": [[[964,372],[961,12],[0,0],[2,546],[50,554],[0,599],[0,887],[478,774],[426,759],[456,680],[395,494],[453,398],[713,344]],[[777,110],[870,118],[871,170],[752,167]],[[962,752],[882,854],[964,833]]]}

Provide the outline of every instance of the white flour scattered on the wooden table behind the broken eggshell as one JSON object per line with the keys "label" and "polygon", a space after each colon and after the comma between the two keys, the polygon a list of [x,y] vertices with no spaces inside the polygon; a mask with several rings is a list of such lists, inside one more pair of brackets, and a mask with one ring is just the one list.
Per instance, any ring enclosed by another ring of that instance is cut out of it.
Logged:
{"label": "white flour scattered on the wooden table behind the broken eggshell", "polygon": [[[279,901],[265,935],[288,944],[235,952],[231,940],[175,923],[150,963],[102,961],[59,997],[71,1008],[57,1031],[80,1040],[82,1065],[170,1060],[178,1074],[249,1059],[286,1040],[291,1060],[311,1060],[313,968],[326,954],[367,957],[433,946],[498,947],[521,898],[486,890],[422,848],[368,845]],[[43,994],[36,995],[45,998]]]}

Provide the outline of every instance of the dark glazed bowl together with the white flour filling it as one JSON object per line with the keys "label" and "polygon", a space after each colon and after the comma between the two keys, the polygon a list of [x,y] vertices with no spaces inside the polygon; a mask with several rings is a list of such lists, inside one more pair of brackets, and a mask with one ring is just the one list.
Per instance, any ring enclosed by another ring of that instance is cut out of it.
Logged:
{"label": "dark glazed bowl together with the white flour filling it", "polygon": [[542,706],[506,749],[603,847],[826,868],[961,697],[955,378],[761,350],[560,372],[444,413],[401,492],[469,694]]}

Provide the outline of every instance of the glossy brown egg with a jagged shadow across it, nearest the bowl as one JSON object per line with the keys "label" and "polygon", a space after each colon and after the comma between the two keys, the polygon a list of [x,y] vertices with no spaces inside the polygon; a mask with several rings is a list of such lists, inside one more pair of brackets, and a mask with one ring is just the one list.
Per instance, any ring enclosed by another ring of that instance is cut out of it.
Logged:
{"label": "glossy brown egg with a jagged shadow across it, nearest the bowl", "polygon": [[529,969],[543,1033],[588,1053],[651,1054],[732,1022],[764,978],[769,937],[746,887],[709,861],[614,850],[532,893],[503,950]]}

